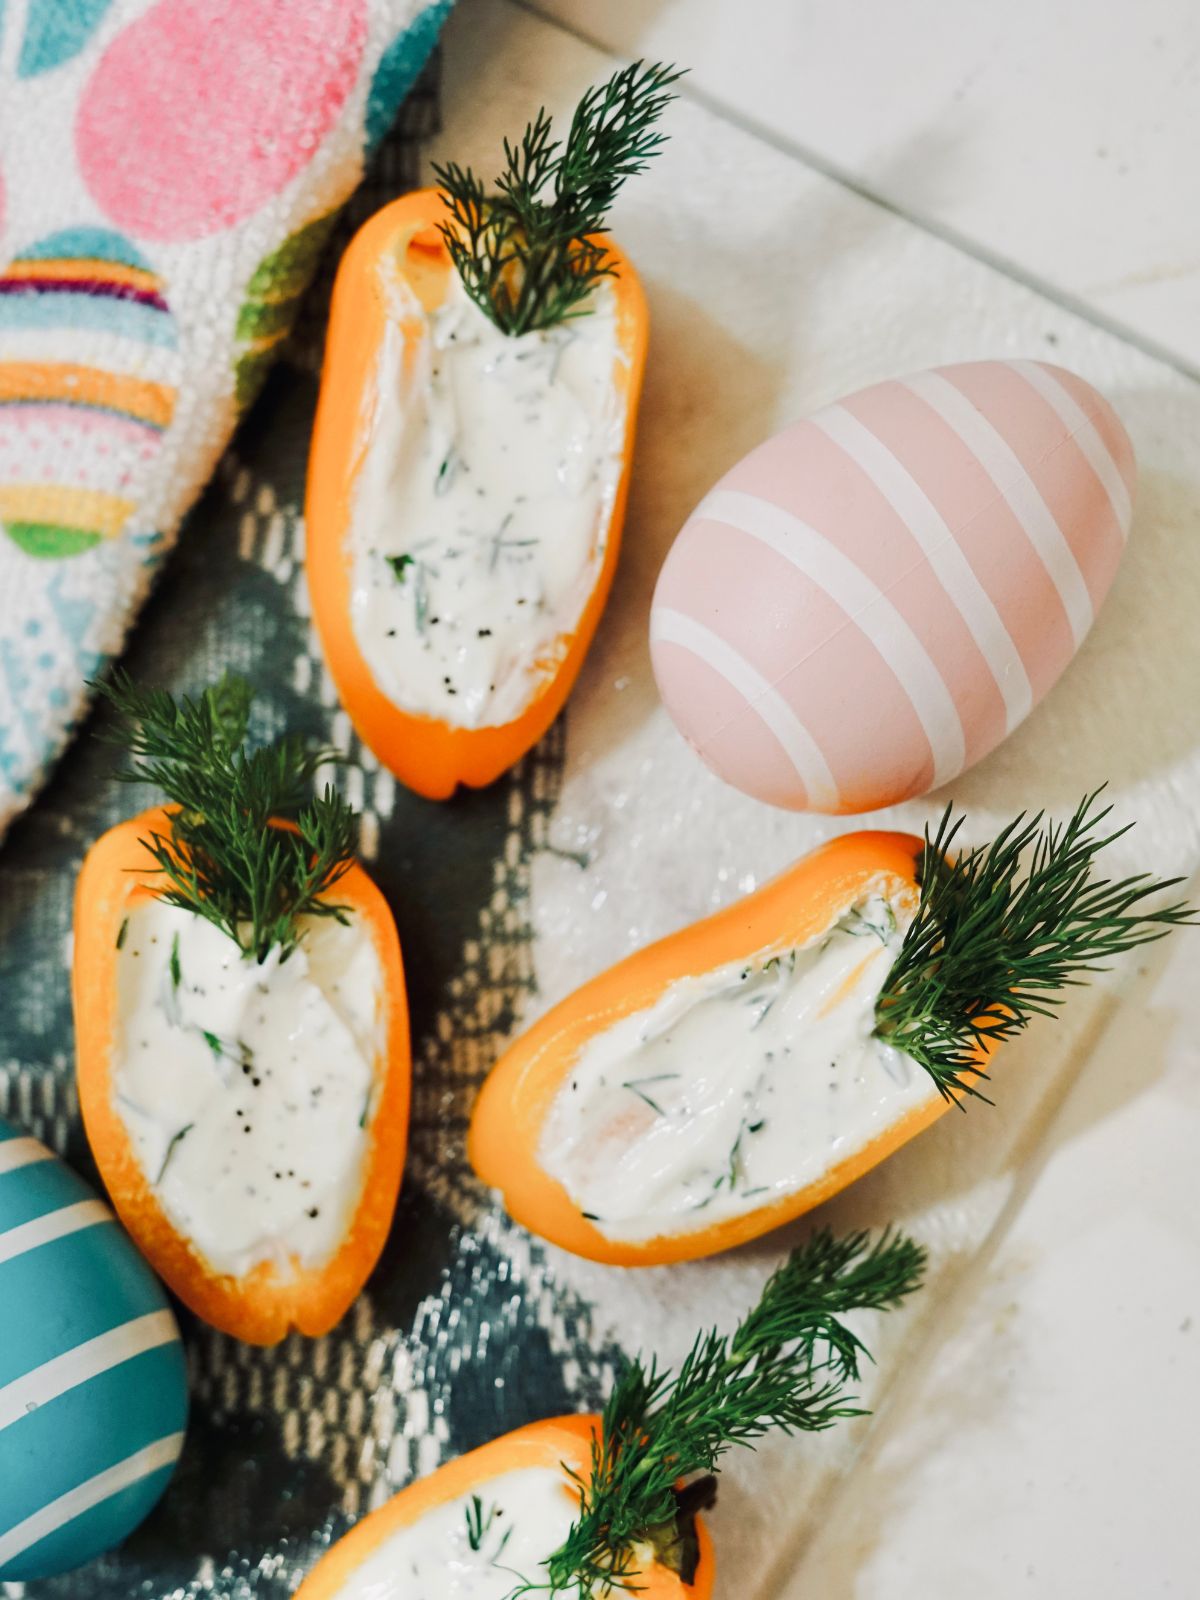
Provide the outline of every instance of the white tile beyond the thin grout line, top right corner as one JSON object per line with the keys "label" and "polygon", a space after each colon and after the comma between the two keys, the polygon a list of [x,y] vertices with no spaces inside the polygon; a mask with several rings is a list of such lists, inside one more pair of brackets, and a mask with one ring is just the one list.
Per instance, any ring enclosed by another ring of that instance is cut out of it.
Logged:
{"label": "white tile beyond the thin grout line, top right corner", "polygon": [[1194,0],[534,0],[1200,368]]}

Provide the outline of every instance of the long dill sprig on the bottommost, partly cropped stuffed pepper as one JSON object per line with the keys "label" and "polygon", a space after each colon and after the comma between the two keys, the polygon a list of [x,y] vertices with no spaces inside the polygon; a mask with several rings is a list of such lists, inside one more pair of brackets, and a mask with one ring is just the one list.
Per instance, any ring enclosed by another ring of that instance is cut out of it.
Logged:
{"label": "long dill sprig on the bottommost, partly cropped stuffed pepper", "polygon": [[898,1306],[923,1270],[925,1251],[902,1235],[872,1243],[864,1232],[821,1232],[792,1251],[731,1336],[699,1334],[678,1373],[630,1362],[605,1406],[587,1475],[571,1474],[578,1518],[546,1576],[522,1579],[509,1600],[637,1590],[646,1555],[691,1582],[696,1512],[715,1498],[720,1458],[771,1429],[816,1432],[862,1416],[845,1389],[870,1357],[842,1317]]}

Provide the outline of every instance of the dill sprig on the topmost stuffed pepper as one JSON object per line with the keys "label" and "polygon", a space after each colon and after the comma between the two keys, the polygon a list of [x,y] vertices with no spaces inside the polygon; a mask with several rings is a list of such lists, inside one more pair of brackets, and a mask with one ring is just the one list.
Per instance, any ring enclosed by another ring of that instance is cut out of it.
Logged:
{"label": "dill sprig on the topmost stuffed pepper", "polygon": [[614,267],[605,219],[627,178],[645,171],[666,134],[656,122],[683,74],[635,61],[587,90],[566,142],[552,138],[542,107],[518,146],[504,141],[506,168],[488,192],[469,166],[434,165],[451,221],[440,224],[470,299],[507,334],[554,328]]}

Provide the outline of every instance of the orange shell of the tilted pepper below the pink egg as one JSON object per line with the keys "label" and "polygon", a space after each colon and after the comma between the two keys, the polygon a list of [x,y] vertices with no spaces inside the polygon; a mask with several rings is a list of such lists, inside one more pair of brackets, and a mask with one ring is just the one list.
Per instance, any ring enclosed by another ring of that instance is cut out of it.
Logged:
{"label": "orange shell of the tilted pepper below the pink egg", "polygon": [[656,1005],[682,978],[803,944],[829,928],[869,888],[883,894],[915,891],[922,850],[923,842],[909,834],[846,834],[746,899],[637,950],[568,995],[501,1056],[483,1085],[467,1144],[478,1176],[502,1192],[510,1214],[531,1232],[576,1256],[637,1267],[712,1256],[758,1238],[811,1211],[878,1165],[928,1128],[950,1102],[936,1098],[906,1112],[795,1194],[741,1216],[638,1242],[602,1234],[541,1166],[538,1152],[542,1123],[558,1088],[597,1034]]}

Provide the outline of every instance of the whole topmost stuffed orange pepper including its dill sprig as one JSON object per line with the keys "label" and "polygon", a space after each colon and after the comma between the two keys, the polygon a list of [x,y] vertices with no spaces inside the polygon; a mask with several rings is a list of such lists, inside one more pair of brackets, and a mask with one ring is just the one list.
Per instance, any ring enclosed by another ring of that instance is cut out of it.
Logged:
{"label": "whole topmost stuffed orange pepper including its dill sprig", "polygon": [[616,570],[646,354],[605,234],[678,77],[541,110],[491,192],[458,165],[342,259],[309,456],[312,611],[363,741],[435,800],[546,733]]}

